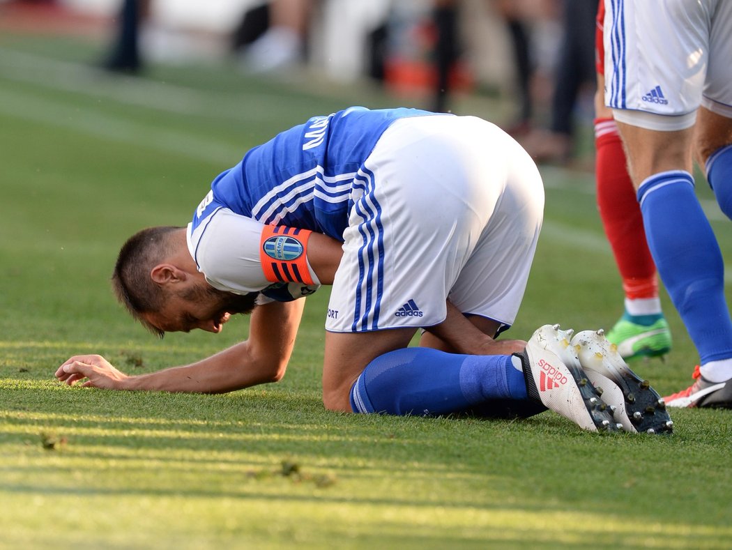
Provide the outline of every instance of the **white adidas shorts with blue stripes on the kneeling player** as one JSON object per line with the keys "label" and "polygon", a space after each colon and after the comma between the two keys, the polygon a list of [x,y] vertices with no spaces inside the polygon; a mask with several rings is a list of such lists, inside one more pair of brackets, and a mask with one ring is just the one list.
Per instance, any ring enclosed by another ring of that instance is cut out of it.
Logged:
{"label": "white adidas shorts with blue stripes on the kneeling player", "polygon": [[356,176],[326,330],[430,327],[463,313],[511,325],[544,208],[531,157],[472,116],[400,119]]}

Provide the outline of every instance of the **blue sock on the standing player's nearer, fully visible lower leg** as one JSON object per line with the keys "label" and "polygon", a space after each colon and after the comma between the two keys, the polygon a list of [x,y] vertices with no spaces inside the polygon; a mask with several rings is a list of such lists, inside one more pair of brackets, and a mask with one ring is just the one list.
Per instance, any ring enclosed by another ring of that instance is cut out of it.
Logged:
{"label": "blue sock on the standing player's nearer, fully visible lower leg", "polygon": [[661,172],[638,189],[651,255],[701,363],[732,357],[722,253],[685,171]]}

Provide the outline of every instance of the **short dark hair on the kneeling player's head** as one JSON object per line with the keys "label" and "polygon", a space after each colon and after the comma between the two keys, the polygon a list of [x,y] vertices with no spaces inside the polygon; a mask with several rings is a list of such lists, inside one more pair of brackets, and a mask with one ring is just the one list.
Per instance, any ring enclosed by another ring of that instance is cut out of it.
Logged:
{"label": "short dark hair on the kneeling player's head", "polygon": [[144,327],[163,338],[163,331],[142,318],[163,308],[165,293],[150,277],[152,268],[171,252],[171,237],[176,226],[149,227],[127,239],[117,256],[112,286],[117,300]]}

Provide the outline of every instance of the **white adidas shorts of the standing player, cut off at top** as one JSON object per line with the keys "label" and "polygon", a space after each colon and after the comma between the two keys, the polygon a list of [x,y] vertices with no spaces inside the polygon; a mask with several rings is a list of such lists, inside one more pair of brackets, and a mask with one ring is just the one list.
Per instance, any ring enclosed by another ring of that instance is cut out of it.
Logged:
{"label": "white adidas shorts of the standing player, cut off at top", "polygon": [[604,29],[617,120],[682,130],[700,105],[732,118],[732,1],[605,0]]}

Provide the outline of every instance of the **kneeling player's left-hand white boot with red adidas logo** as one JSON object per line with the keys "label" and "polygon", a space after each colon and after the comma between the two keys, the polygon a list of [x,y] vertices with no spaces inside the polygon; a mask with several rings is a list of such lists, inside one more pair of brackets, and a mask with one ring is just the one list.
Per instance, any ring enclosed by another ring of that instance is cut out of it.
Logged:
{"label": "kneeling player's left-hand white boot with red adidas logo", "polygon": [[[557,325],[555,325],[557,326]],[[564,363],[568,346],[557,338],[556,328],[546,324],[515,354],[521,359],[529,397],[589,431],[617,431],[619,425],[589,382],[579,361]]]}

